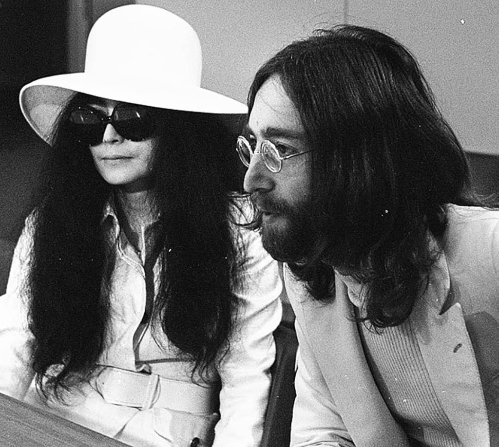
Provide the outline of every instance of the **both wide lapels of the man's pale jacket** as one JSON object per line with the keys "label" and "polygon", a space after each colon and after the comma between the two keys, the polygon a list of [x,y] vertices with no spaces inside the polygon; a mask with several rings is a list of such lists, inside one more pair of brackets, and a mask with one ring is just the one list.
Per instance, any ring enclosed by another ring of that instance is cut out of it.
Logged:
{"label": "both wide lapels of the man's pale jacket", "polygon": [[[336,298],[324,305],[313,300],[302,284],[293,279],[288,284],[292,285],[290,298],[299,303],[294,306],[296,316],[355,445],[409,446],[372,378],[346,285],[337,276]],[[442,255],[425,297],[415,305],[411,324],[434,389],[460,441],[464,447],[489,447],[487,409],[461,305],[454,304],[440,315],[449,289],[449,270]]]}

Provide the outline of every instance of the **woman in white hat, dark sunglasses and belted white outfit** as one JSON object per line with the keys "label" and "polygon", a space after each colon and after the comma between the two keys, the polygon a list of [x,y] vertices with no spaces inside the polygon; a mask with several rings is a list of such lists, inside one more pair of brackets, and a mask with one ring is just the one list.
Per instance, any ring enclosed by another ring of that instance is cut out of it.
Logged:
{"label": "woman in white hat, dark sunglasses and belted white outfit", "polygon": [[194,30],[128,5],[93,26],[85,73],[20,94],[52,151],[2,298],[0,391],[130,445],[261,437],[281,284],[228,194],[220,120],[244,107],[200,78]]}

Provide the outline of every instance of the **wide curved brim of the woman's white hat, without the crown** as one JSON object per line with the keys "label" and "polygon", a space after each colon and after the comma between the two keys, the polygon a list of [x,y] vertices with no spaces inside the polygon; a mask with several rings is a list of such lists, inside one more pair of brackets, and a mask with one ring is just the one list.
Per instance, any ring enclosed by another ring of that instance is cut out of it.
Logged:
{"label": "wide curved brim of the woman's white hat, without the crown", "polygon": [[[21,111],[33,130],[46,142],[59,113],[73,93],[141,104],[149,107],[217,115],[246,115],[245,104],[202,87],[182,87],[145,82],[120,82],[89,73],[70,73],[37,79],[19,93]],[[233,120],[234,121],[234,120]],[[237,119],[240,122],[240,119]]]}

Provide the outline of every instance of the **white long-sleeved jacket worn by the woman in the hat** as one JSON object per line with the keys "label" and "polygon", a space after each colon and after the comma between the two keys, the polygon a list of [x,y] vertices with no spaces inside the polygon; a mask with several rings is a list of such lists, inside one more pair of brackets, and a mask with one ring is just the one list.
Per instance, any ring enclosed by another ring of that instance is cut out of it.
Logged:
{"label": "white long-sleeved jacket worn by the woman in the hat", "polygon": [[[117,243],[112,317],[108,343],[100,363],[128,371],[140,370],[142,363],[148,364],[152,373],[162,380],[187,383],[186,391],[181,389],[184,396],[192,387],[192,365],[169,344],[166,336],[158,344],[149,326],[142,332],[139,329],[146,304],[144,268],[137,252],[120,231],[112,208],[108,207],[106,217],[112,220],[110,231]],[[106,402],[93,382],[82,387],[82,394],[69,396],[69,406],[47,401],[37,393],[30,368],[31,334],[26,328],[22,293],[31,245],[29,224],[14,251],[6,294],[0,297],[0,392],[131,445],[187,447],[194,437],[201,439],[200,447],[210,445],[209,436],[206,435],[207,441],[203,437],[216,423],[213,446],[257,446],[267,405],[269,368],[275,356],[272,332],[281,319],[279,295],[282,284],[277,262],[264,251],[258,233],[241,228],[235,228],[235,231],[240,231],[246,242],[249,259],[243,274],[244,285],[235,290],[242,305],[230,340],[231,350],[205,384],[218,391],[216,387],[221,382],[218,423],[218,415],[211,412],[194,414],[157,405],[142,410],[115,405]],[[157,270],[158,265],[155,272]],[[167,381],[162,383],[163,387]],[[196,396],[186,395],[186,400],[189,399],[196,403]]]}

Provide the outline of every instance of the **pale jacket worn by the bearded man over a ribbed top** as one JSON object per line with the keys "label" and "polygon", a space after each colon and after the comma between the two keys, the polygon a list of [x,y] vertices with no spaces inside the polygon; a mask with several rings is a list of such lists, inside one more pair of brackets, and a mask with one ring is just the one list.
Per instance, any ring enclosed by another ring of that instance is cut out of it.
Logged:
{"label": "pale jacket worn by the bearded man over a ribbed top", "polygon": [[[440,272],[431,278],[409,320],[431,384],[462,446],[496,446],[490,433],[497,433],[497,426],[489,426],[489,418],[498,420],[498,407],[488,415],[477,347],[467,332],[463,309],[485,310],[499,319],[499,211],[458,206],[448,210],[444,252],[435,266]],[[299,342],[291,446],[413,445],[370,371],[353,319],[352,285],[336,275],[336,298],[323,304],[313,300],[287,268],[284,279]],[[441,313],[451,284],[457,302]],[[482,361],[497,367],[498,347],[492,345],[487,352],[489,357],[482,353]],[[498,398],[496,384],[488,384],[488,391]]]}

